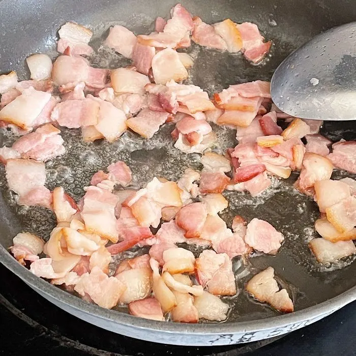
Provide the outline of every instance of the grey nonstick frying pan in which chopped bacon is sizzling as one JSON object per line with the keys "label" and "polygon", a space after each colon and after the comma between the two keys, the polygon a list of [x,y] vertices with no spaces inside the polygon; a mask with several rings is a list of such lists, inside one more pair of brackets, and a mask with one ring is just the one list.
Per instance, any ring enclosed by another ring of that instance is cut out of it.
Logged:
{"label": "grey nonstick frying pan in which chopped bacon is sizzling", "polygon": [[[57,29],[73,20],[89,25],[94,30],[93,46],[97,49],[109,25],[123,24],[136,34],[149,33],[157,16],[168,16],[176,0],[114,1],[114,0],[3,0],[0,1],[1,44],[0,68],[6,73],[16,70],[21,79],[28,78],[24,59],[29,53],[46,52],[56,56]],[[265,64],[252,66],[241,55],[230,55],[192,47],[195,65],[192,82],[210,94],[229,84],[256,79],[269,80],[281,61],[295,48],[316,34],[336,25],[354,21],[356,6],[352,0],[191,0],[183,6],[207,23],[225,18],[235,22],[251,21],[258,25],[266,39],[273,40],[271,56]],[[102,55],[105,57],[105,53]],[[111,58],[111,57],[110,57]],[[112,61],[93,59],[93,65],[110,68],[125,65],[120,56]],[[233,143],[233,130],[217,129],[220,149]],[[63,132],[67,153],[61,159],[47,163],[47,186],[62,185],[76,199],[83,194],[82,187],[91,175],[107,166],[111,160],[123,159],[133,170],[138,185],[163,175],[173,179],[186,166],[199,167],[195,155],[174,152],[169,139],[169,126],[164,126],[152,142],[126,133],[114,144],[78,144],[79,133]],[[330,122],[322,133],[333,140],[355,139],[352,122]],[[0,144],[11,137],[0,134]],[[244,343],[282,335],[299,329],[336,311],[356,299],[356,264],[346,258],[336,265],[318,265],[310,253],[307,241],[314,236],[313,221],[317,218],[316,204],[290,188],[296,175],[282,183],[275,182],[274,194],[252,199],[248,194],[229,193],[230,209],[223,214],[227,222],[240,214],[248,221],[253,217],[265,219],[285,235],[285,243],[277,256],[255,256],[248,266],[236,258],[233,269],[240,292],[225,298],[232,306],[224,323],[185,324],[145,320],[127,314],[124,309],[106,310],[86,303],[76,296],[56,288],[32,275],[8,252],[13,236],[21,230],[48,236],[53,216],[41,207],[26,209],[14,204],[4,184],[1,170],[0,195],[0,260],[47,300],[63,310],[98,325],[101,328],[139,338],[180,345],[223,345]],[[338,176],[343,173],[336,173]],[[335,177],[338,177],[335,176]],[[280,314],[268,306],[256,303],[244,291],[244,283],[254,273],[272,265],[281,286],[292,295],[295,312]],[[247,271],[247,273],[246,273]],[[21,293],[21,290],[18,291]]]}

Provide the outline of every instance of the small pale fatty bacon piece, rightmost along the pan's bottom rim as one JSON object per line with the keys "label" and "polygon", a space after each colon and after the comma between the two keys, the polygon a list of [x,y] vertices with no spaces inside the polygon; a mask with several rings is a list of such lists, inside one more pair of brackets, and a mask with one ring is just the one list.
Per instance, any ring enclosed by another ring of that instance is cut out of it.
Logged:
{"label": "small pale fatty bacon piece, rightmost along the pan's bottom rim", "polygon": [[211,321],[223,321],[227,318],[228,304],[209,292],[204,291],[202,295],[195,296],[193,305],[198,310],[199,318]]}

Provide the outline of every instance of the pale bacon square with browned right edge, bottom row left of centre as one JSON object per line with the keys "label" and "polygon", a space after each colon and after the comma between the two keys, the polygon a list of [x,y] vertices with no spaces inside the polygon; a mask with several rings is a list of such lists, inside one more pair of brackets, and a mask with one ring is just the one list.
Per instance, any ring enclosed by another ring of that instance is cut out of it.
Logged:
{"label": "pale bacon square with browned right edge, bottom row left of centre", "polygon": [[151,294],[151,268],[135,268],[115,275],[126,289],[119,298],[120,303],[128,304],[144,299]]}

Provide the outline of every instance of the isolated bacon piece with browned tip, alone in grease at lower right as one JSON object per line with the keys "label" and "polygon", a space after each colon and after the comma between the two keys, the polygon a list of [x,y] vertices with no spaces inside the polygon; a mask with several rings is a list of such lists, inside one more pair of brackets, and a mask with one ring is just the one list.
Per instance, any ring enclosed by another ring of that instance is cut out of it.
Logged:
{"label": "isolated bacon piece with browned tip, alone in grease at lower right", "polygon": [[294,310],[293,302],[286,289],[279,290],[274,276],[274,269],[268,267],[253,276],[246,284],[245,289],[261,303],[268,303],[278,311],[290,313]]}

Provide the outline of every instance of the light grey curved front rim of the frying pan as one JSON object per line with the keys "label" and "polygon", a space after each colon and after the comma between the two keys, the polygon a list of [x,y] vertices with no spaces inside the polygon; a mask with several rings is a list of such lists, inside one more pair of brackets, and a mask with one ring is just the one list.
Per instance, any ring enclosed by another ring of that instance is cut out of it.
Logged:
{"label": "light grey curved front rim of the frying pan", "polygon": [[318,316],[332,313],[342,308],[356,299],[356,286],[344,291],[332,299],[316,304],[288,314],[277,315],[269,318],[263,318],[251,321],[233,321],[224,323],[197,323],[187,324],[178,322],[155,321],[136,317],[120,311],[104,309],[96,304],[83,301],[77,296],[66,292],[54,285],[46,282],[29,272],[24,266],[14,259],[9,252],[0,245],[0,262],[22,279],[28,285],[35,289],[40,289],[52,299],[59,303],[64,303],[78,311],[94,315],[104,320],[115,321],[122,325],[135,327],[139,329],[150,330],[153,332],[178,333],[181,335],[221,335],[237,333],[254,333],[263,330],[278,329],[287,325],[297,324],[308,320],[313,320]]}

